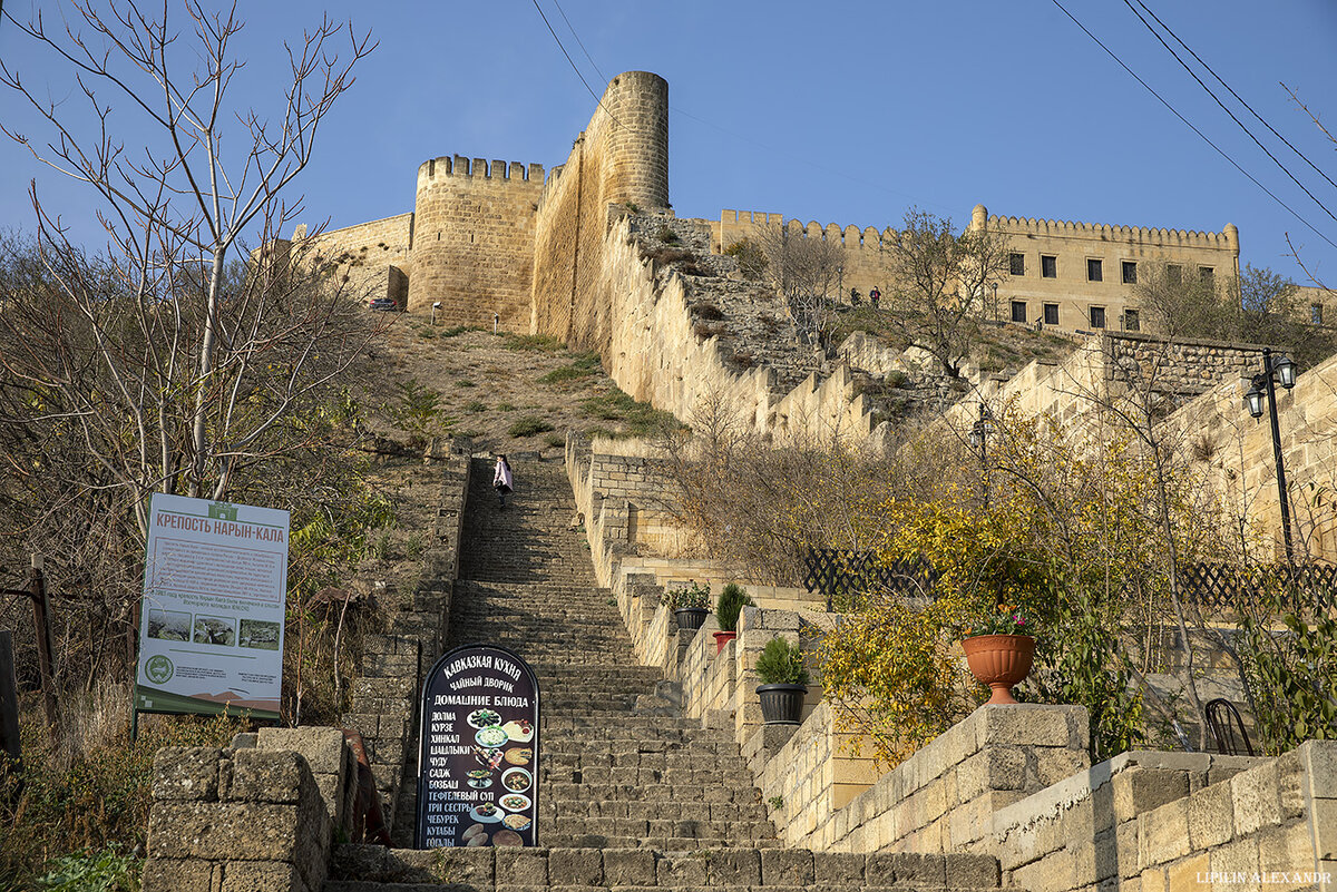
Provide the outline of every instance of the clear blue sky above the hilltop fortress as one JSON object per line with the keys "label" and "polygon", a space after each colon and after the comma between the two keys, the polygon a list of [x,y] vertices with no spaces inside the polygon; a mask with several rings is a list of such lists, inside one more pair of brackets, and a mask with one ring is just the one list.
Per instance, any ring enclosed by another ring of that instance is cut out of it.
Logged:
{"label": "clear blue sky above the hilltop fortress", "polygon": [[[1337,134],[1337,4],[1144,1],[1337,180],[1337,144],[1281,87],[1293,87]],[[1063,3],[1241,167],[1337,242],[1337,220],[1249,140],[1122,0]],[[59,4],[41,5],[59,15]],[[668,80],[670,194],[679,215],[717,218],[729,207],[881,227],[919,204],[963,224],[984,203],[995,214],[1096,223],[1219,231],[1231,222],[1245,262],[1301,279],[1285,256],[1289,232],[1306,264],[1337,286],[1337,248],[1175,119],[1052,0],[564,0],[594,64],[554,0],[539,5],[596,92],[620,71]],[[25,16],[32,7],[8,0],[5,12]],[[386,0],[374,8],[242,0],[239,8],[247,29],[237,45],[247,68],[233,99],[262,111],[278,99],[281,41],[322,9],[380,40],[297,182],[313,224],[412,210],[416,170],[428,158],[562,163],[594,108],[533,0]],[[8,23],[0,23],[0,57],[80,114],[68,72]],[[44,135],[11,92],[0,93],[0,116],[32,138]],[[1337,214],[1337,188],[1257,120],[1242,120]],[[143,142],[132,130],[124,138]],[[31,228],[25,192],[37,178],[72,231],[100,242],[84,187],[60,182],[9,142],[0,144],[0,224]]]}

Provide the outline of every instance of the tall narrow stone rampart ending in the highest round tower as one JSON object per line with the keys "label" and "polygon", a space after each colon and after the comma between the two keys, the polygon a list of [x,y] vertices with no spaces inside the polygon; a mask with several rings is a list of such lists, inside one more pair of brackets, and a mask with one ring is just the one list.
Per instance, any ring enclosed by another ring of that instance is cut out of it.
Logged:
{"label": "tall narrow stone rampart ending in the highest round tower", "polygon": [[658,75],[631,71],[608,83],[539,200],[531,330],[602,354],[612,323],[596,282],[610,204],[668,204],[668,84]]}

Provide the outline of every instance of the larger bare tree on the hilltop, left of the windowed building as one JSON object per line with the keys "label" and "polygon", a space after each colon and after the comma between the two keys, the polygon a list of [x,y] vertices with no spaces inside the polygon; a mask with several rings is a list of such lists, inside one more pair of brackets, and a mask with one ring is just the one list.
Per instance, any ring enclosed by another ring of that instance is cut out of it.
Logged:
{"label": "larger bare tree on the hilltop, left of the windowed building", "polygon": [[949,218],[912,207],[886,251],[894,276],[889,323],[960,377],[989,286],[1007,275],[1007,236],[989,228],[957,234]]}

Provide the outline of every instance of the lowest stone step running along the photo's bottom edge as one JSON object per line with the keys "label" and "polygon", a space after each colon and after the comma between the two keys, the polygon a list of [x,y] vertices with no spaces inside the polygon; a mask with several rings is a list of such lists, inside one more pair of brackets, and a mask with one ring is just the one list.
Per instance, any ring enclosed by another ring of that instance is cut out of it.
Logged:
{"label": "lowest stone step running along the photo's bottom edge", "polygon": [[[611,840],[610,840],[611,841]],[[326,892],[516,892],[517,889],[997,889],[999,864],[987,855],[857,855],[766,845],[701,849],[679,847],[548,847],[385,849],[336,847]],[[406,885],[405,885],[406,884]],[[1017,891],[1023,892],[1023,891]]]}

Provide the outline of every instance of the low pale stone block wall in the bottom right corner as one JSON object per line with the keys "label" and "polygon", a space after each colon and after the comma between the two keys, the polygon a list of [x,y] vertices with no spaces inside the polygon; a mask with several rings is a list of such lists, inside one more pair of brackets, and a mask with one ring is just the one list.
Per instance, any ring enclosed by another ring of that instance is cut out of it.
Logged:
{"label": "low pale stone block wall in the bottom right corner", "polygon": [[1123,753],[995,813],[971,848],[1031,892],[1337,888],[1337,742]]}

